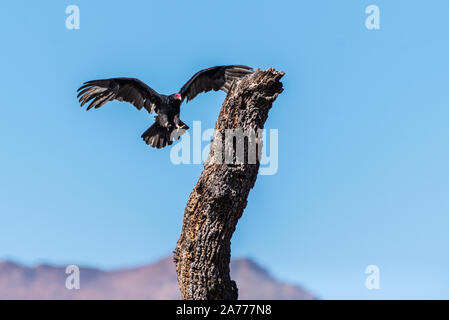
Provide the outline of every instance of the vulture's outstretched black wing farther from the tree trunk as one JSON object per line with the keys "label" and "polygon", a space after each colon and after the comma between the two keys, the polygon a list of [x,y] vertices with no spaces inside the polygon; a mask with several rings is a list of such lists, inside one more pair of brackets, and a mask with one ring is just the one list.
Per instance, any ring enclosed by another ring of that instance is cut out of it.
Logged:
{"label": "vulture's outstretched black wing farther from the tree trunk", "polygon": [[112,78],[92,80],[78,89],[81,106],[92,100],[87,110],[100,108],[108,101],[118,100],[132,103],[137,109],[144,107],[149,113],[158,112],[160,95],[139,79]]}

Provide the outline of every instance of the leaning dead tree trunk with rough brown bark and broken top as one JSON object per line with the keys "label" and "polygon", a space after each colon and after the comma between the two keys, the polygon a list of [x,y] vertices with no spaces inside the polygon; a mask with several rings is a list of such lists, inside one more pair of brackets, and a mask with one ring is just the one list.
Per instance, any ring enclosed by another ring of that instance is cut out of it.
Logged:
{"label": "leaning dead tree trunk with rough brown bark and broken top", "polygon": [[[259,170],[262,133],[257,129],[264,127],[272,103],[283,91],[279,81],[283,75],[272,68],[257,70],[234,82],[223,102],[209,157],[187,202],[182,233],[174,251],[183,299],[238,297],[237,285],[229,274],[231,237]],[[226,129],[253,132],[243,138],[244,159],[237,156],[239,138],[226,140]],[[255,161],[249,161],[247,155],[248,149],[252,150],[251,142],[257,145]]]}

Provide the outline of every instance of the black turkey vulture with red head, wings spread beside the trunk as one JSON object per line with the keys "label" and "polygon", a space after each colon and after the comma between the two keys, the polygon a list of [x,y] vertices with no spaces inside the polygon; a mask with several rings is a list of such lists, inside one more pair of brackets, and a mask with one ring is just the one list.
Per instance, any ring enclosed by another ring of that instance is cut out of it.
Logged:
{"label": "black turkey vulture with red head, wings spread beside the trunk", "polygon": [[[171,145],[189,127],[179,119],[181,103],[192,100],[201,92],[223,90],[228,92],[234,79],[242,78],[253,69],[248,66],[217,66],[201,70],[186,82],[178,93],[159,94],[145,83],[135,78],[112,78],[87,81],[78,89],[81,107],[92,101],[87,110],[100,108],[112,100],[132,103],[137,109],[145,108],[150,114],[156,112],[156,121],[142,134],[146,144],[156,148]],[[178,136],[172,136],[174,130]]]}

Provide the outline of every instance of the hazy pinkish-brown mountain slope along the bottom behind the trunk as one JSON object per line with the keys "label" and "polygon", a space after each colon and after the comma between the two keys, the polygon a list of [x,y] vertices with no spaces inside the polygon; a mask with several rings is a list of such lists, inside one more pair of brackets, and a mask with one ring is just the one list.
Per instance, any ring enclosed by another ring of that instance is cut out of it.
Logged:
{"label": "hazy pinkish-brown mountain slope along the bottom behind the trunk", "polygon": [[[276,281],[250,259],[231,263],[239,299],[313,299],[301,287]],[[65,287],[65,267],[0,262],[0,299],[179,299],[175,266],[165,258],[147,266],[102,271],[80,267],[80,290]]]}

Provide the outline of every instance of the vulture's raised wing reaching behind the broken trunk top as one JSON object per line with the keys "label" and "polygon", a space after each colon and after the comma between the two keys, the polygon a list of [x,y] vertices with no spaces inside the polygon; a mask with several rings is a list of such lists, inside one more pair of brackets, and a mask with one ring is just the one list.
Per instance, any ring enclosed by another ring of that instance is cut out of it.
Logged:
{"label": "vulture's raised wing reaching behind the broken trunk top", "polygon": [[218,66],[204,69],[195,73],[181,88],[179,93],[183,100],[187,98],[187,102],[201,92],[223,90],[227,93],[234,79],[242,78],[253,72],[252,68],[240,65]]}

